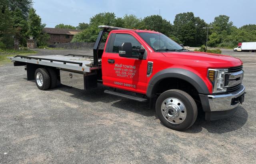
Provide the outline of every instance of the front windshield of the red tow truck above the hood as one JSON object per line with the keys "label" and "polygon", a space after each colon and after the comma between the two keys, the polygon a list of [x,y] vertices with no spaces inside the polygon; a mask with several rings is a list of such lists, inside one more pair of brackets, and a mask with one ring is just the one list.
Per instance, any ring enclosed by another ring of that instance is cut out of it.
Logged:
{"label": "front windshield of the red tow truck above the hood", "polygon": [[[181,51],[185,50],[175,41],[171,40],[164,34],[138,32],[138,35],[154,49],[154,51]],[[159,40],[160,39],[160,40]]]}

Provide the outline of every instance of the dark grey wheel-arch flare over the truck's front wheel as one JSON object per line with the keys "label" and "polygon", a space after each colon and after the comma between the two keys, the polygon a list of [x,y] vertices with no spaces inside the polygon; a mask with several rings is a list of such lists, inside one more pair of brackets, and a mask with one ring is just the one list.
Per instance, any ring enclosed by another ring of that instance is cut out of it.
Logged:
{"label": "dark grey wheel-arch flare over the truck's front wheel", "polygon": [[188,71],[186,69],[180,68],[168,68],[156,73],[149,81],[148,88],[147,88],[147,97],[154,97],[155,95],[155,88],[157,87],[158,83],[162,79],[166,78],[178,78],[184,81],[187,81],[191,85],[193,85],[198,93],[200,94],[210,94],[208,87],[204,83],[204,81],[195,73]]}

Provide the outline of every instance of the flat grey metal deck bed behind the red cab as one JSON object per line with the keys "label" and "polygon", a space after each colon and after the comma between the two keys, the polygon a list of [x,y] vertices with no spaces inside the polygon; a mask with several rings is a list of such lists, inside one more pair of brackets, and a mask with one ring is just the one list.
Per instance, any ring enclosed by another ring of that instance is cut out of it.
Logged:
{"label": "flat grey metal deck bed behind the red cab", "polygon": [[70,71],[80,71],[82,73],[90,73],[94,69],[100,69],[99,66],[93,67],[93,57],[88,55],[42,55],[42,56],[14,56],[8,57],[12,62],[32,63],[38,65],[46,65],[66,69]]}

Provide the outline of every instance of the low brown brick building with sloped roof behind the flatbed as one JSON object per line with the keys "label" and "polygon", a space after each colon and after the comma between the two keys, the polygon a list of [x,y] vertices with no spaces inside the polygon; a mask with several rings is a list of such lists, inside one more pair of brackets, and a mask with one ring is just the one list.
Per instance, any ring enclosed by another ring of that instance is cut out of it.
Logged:
{"label": "low brown brick building with sloped roof behind the flatbed", "polygon": [[68,43],[73,36],[80,32],[80,30],[63,29],[63,28],[44,28],[44,32],[50,35],[48,44]]}

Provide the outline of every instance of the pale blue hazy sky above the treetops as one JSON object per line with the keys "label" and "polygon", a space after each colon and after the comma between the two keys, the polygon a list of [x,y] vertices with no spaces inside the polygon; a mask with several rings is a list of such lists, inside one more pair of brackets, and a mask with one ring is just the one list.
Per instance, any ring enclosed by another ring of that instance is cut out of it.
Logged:
{"label": "pale blue hazy sky above the treetops", "polygon": [[173,24],[176,14],[193,12],[206,23],[219,15],[230,17],[238,28],[256,24],[256,0],[34,0],[36,13],[46,27],[63,23],[78,26],[90,22],[100,12],[114,12],[117,17],[134,14],[144,18],[159,14]]}

